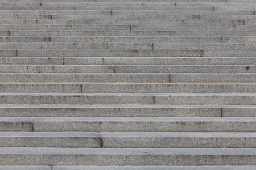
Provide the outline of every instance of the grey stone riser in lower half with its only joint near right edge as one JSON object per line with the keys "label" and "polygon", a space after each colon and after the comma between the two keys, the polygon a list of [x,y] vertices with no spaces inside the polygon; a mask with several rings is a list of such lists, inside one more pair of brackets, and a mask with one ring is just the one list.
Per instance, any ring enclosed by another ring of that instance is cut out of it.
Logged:
{"label": "grey stone riser in lower half with its only joint near right edge", "polygon": [[[30,105],[31,106],[31,105]],[[59,105],[58,105],[59,106]],[[155,105],[154,105],[155,106]],[[163,107],[158,108],[150,105],[151,108],[134,108],[134,105],[126,107],[119,105],[106,108],[97,107],[7,107],[0,108],[1,116],[8,117],[255,117],[255,108],[241,107],[216,107],[216,108],[182,108]]]}

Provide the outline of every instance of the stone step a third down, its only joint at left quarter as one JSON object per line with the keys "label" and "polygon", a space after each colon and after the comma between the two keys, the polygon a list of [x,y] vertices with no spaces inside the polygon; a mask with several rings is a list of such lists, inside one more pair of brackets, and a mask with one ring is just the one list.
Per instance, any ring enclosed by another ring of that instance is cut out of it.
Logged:
{"label": "stone step a third down, its only joint at left quarter", "polygon": [[251,65],[255,57],[0,57],[1,65]]}

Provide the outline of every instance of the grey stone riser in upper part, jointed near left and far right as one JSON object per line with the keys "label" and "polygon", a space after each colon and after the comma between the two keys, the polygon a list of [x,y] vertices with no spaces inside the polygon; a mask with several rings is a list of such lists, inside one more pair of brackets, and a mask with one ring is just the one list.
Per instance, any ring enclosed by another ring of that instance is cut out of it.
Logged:
{"label": "grey stone riser in upper part, jointed near left and far right", "polygon": [[[1,32],[0,32],[1,33]],[[6,37],[0,37],[0,42],[3,43],[11,43],[16,42],[15,44],[22,43],[22,42],[72,42],[72,43],[79,43],[79,42],[93,42],[93,43],[107,43],[107,42],[133,42],[133,43],[145,43],[145,42],[165,42],[165,43],[183,43],[183,44],[192,44],[192,43],[204,43],[205,45],[213,43],[216,45],[217,43],[222,43],[221,45],[225,45],[226,43],[233,43],[233,44],[246,44],[246,43],[256,43],[255,37],[175,37],[175,36],[76,36],[76,37],[10,37],[9,34],[13,34],[13,31],[2,32],[3,35],[8,35]],[[31,34],[35,34],[36,32],[32,31]],[[181,45],[181,44],[179,44]],[[236,46],[238,48],[238,46]]]}

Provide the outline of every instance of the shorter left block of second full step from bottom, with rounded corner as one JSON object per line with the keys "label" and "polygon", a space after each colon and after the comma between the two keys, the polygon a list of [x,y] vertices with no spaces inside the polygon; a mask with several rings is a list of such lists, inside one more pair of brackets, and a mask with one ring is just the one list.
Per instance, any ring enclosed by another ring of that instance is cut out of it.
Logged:
{"label": "shorter left block of second full step from bottom, with rounded corner", "polygon": [[100,134],[92,132],[2,132],[0,139],[2,147],[101,147]]}

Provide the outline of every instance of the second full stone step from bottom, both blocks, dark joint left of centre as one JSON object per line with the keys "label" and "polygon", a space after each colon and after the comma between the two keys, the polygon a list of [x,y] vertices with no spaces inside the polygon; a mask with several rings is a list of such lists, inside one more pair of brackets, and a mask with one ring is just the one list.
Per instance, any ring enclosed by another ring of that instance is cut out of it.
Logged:
{"label": "second full stone step from bottom, both blocks, dark joint left of centre", "polygon": [[253,148],[256,133],[0,132],[2,147]]}

